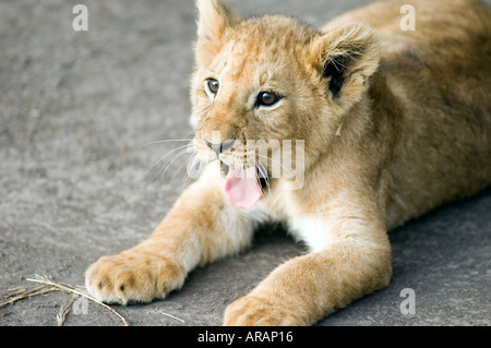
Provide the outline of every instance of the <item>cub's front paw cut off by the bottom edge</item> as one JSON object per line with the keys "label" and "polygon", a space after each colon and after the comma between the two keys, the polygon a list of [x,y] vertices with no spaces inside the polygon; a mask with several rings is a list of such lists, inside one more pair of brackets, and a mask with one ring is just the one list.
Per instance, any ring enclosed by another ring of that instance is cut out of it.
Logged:
{"label": "cub's front paw cut off by the bottom edge", "polygon": [[229,326],[298,326],[304,325],[295,311],[273,299],[244,296],[225,311],[224,325]]}

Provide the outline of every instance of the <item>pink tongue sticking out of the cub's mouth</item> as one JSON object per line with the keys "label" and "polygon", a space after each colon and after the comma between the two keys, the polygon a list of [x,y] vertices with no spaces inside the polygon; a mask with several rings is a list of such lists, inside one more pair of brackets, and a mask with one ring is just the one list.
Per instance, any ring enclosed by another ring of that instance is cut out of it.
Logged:
{"label": "pink tongue sticking out of the cub's mouth", "polygon": [[263,192],[258,183],[258,168],[229,168],[225,179],[225,195],[237,208],[250,209],[261,199]]}

